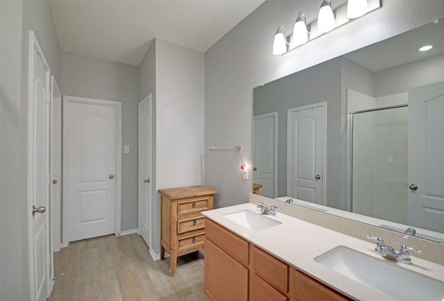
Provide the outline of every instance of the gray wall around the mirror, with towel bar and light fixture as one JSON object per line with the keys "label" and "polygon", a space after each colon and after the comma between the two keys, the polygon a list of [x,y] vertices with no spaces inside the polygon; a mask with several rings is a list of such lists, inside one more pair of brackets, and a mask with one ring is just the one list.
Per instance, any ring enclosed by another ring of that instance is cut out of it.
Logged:
{"label": "gray wall around the mirror, with towel bar and light fixture", "polygon": [[253,87],[444,17],[444,1],[383,1],[369,15],[286,55],[273,55],[276,28],[291,28],[294,16],[313,3],[299,5],[265,1],[205,53],[205,145],[243,146],[231,153],[205,150],[205,184],[219,191],[218,207],[244,203],[252,190],[251,177],[242,180],[239,165],[252,162]]}

